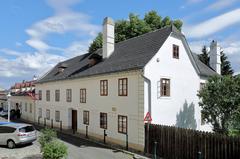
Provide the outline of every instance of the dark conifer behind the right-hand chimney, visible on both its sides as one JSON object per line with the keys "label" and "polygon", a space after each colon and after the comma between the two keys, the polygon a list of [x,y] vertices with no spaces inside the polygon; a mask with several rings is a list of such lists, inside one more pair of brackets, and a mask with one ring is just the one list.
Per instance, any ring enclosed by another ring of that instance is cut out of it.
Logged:
{"label": "dark conifer behind the right-hand chimney, visible on both its sides", "polygon": [[[202,53],[198,55],[199,59],[210,67],[209,61],[209,55],[207,52],[206,46],[203,46]],[[222,51],[221,52],[221,74],[222,75],[233,75],[234,71],[232,69],[230,61],[228,61],[227,55]]]}

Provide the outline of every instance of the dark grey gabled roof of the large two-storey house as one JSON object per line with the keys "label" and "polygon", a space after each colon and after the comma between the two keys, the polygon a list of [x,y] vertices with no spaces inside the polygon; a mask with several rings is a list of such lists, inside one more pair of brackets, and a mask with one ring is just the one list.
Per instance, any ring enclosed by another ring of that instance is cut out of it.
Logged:
{"label": "dark grey gabled roof of the large two-storey house", "polygon": [[[39,79],[37,83],[142,69],[157,53],[171,33],[174,33],[175,36],[184,37],[184,35],[173,25],[165,27],[116,43],[112,55],[109,58],[98,62],[96,65],[88,65],[89,57],[92,57],[93,54],[101,55],[102,49],[98,49],[94,53],[86,53],[84,55],[61,62],[44,77]],[[197,59],[194,58],[194,60]],[[195,64],[195,61],[192,62]],[[59,72],[59,68],[63,63],[67,67],[64,68],[63,72]],[[207,68],[203,66],[204,64],[202,65],[202,63],[199,63],[199,61],[197,61],[196,64],[199,64],[199,70],[197,72],[200,72],[201,75],[201,71],[203,71],[202,74],[205,74],[204,71],[207,70]]]}

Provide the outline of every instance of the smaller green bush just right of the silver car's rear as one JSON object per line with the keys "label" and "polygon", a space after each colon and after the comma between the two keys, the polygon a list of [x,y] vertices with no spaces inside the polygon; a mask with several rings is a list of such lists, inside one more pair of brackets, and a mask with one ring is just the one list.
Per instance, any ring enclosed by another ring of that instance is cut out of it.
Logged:
{"label": "smaller green bush just right of the silver car's rear", "polygon": [[41,145],[41,151],[43,150],[44,146],[55,140],[57,138],[57,133],[55,130],[45,128],[41,130],[41,135],[39,137],[39,143]]}

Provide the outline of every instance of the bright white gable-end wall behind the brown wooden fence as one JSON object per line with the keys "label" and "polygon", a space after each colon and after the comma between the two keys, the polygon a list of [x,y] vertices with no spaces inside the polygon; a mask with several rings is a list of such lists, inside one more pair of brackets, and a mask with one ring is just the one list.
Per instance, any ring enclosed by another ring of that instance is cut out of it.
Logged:
{"label": "bright white gable-end wall behind the brown wooden fence", "polygon": [[[172,45],[179,46],[179,59],[173,58]],[[159,59],[159,62],[157,62]],[[176,115],[185,101],[195,105],[195,119],[197,129],[201,130],[201,114],[198,106],[197,92],[200,88],[200,77],[193,67],[183,42],[169,36],[158,53],[145,66],[144,75],[152,84],[152,118],[153,123],[174,126]],[[157,83],[160,78],[169,78],[171,81],[170,97],[157,97]],[[145,114],[148,108],[147,84],[144,84]]]}

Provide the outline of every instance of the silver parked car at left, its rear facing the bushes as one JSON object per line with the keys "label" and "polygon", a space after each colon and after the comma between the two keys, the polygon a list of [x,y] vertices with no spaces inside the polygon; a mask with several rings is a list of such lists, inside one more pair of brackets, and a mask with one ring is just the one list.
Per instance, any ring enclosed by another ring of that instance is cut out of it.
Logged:
{"label": "silver parked car at left, its rear facing the bushes", "polygon": [[0,145],[12,149],[16,145],[32,143],[37,139],[37,131],[30,124],[0,122]]}

